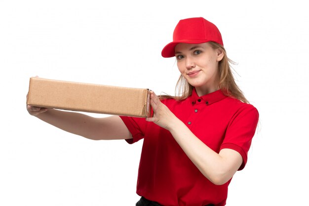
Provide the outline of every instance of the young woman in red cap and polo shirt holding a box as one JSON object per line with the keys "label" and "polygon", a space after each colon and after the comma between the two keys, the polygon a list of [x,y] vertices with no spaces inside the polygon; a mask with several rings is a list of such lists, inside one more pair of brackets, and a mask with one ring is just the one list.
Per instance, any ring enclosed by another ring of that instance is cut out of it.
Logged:
{"label": "young woman in red cap and polo shirt holding a box", "polygon": [[144,139],[136,206],[224,206],[233,174],[246,165],[258,111],[235,84],[211,22],[180,20],[162,56],[176,56],[180,95],[160,99],[152,92],[152,118],[93,118],[27,105],[28,112],[89,139]]}

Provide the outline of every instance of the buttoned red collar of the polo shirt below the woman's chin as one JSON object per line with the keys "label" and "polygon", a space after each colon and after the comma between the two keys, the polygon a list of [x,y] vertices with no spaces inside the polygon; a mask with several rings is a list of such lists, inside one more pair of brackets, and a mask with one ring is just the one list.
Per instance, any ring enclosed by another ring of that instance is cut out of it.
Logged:
{"label": "buttoned red collar of the polo shirt below the woman's chin", "polygon": [[205,94],[203,96],[198,96],[195,88],[193,88],[192,95],[191,95],[190,98],[191,98],[192,105],[194,105],[196,103],[203,103],[203,104],[206,104],[208,106],[208,105],[211,105],[215,102],[223,100],[226,97],[227,96],[223,94],[221,89],[214,91],[212,93],[209,93],[209,94]]}

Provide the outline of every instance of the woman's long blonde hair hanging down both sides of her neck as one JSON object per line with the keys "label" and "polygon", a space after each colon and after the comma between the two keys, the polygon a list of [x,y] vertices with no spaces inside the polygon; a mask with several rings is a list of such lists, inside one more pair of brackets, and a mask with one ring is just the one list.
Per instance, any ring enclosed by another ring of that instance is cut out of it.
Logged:
{"label": "woman's long blonde hair hanging down both sides of her neck", "polygon": [[[224,52],[224,57],[219,62],[219,89],[226,95],[236,98],[244,103],[249,103],[245,98],[243,92],[237,86],[230,64],[235,64],[228,58],[225,48],[216,42],[209,41],[212,48],[219,48]],[[162,95],[161,98],[174,98],[176,100],[183,100],[192,94],[193,86],[187,82],[187,80],[180,75],[175,88],[175,96]]]}

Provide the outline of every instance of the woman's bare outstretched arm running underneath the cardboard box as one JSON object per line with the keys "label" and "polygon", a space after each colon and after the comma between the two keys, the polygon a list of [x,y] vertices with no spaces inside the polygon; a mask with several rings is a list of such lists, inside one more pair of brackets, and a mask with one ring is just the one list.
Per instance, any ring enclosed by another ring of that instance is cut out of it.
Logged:
{"label": "woman's bare outstretched arm running underneath the cardboard box", "polygon": [[27,105],[30,115],[67,132],[88,139],[130,139],[131,133],[120,117],[94,118],[77,112],[67,112]]}

